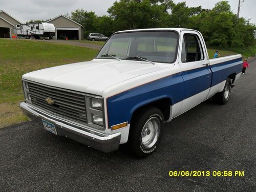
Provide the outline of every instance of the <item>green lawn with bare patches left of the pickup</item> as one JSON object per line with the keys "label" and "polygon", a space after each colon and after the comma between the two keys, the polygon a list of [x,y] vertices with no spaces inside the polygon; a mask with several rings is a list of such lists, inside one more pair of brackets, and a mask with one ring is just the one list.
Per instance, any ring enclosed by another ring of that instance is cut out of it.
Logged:
{"label": "green lawn with bare patches left of the pickup", "polygon": [[22,75],[38,69],[93,59],[97,50],[44,41],[0,38],[0,127],[23,122]]}

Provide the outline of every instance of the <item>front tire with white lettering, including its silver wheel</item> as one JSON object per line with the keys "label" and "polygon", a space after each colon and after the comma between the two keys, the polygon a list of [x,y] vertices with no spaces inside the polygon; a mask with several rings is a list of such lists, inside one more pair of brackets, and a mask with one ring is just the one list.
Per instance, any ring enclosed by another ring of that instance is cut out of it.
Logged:
{"label": "front tire with white lettering, including its silver wheel", "polygon": [[153,106],[139,110],[131,122],[129,146],[133,155],[147,157],[155,152],[164,129],[163,113]]}

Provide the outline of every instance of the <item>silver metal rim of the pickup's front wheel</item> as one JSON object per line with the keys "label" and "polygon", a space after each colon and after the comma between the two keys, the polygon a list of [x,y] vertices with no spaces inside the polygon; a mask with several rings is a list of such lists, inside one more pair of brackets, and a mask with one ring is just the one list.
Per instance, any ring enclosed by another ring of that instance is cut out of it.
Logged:
{"label": "silver metal rim of the pickup's front wheel", "polygon": [[151,148],[156,144],[160,134],[160,121],[157,117],[152,117],[143,126],[140,142],[144,148]]}

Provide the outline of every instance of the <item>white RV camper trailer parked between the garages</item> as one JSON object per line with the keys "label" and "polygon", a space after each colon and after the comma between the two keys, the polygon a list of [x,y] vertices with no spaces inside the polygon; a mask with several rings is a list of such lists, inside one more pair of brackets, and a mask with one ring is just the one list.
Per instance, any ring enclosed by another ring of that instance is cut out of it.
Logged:
{"label": "white RV camper trailer parked between the garages", "polygon": [[37,23],[37,24],[21,24],[16,25],[17,36],[26,38],[49,37],[55,35],[55,27],[53,24]]}

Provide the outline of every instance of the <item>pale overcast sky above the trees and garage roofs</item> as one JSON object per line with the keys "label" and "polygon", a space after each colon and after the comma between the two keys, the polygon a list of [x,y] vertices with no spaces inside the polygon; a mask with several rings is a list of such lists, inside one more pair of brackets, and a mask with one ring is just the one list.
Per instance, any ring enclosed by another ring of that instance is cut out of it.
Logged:
{"label": "pale overcast sky above the trees and garage roofs", "polygon": [[[239,0],[229,0],[231,10],[234,13],[238,11]],[[241,0],[243,1],[243,0]],[[49,19],[60,14],[71,13],[75,9],[84,9],[94,11],[98,16],[108,15],[108,8],[113,5],[115,0],[0,0],[0,10],[4,10],[20,22],[25,23],[28,20]],[[174,0],[175,3],[184,2],[184,0]],[[187,0],[189,7],[202,6],[204,9],[212,9],[219,0]],[[246,19],[251,18],[250,22],[256,24],[256,0],[244,0],[240,9],[240,16]]]}

